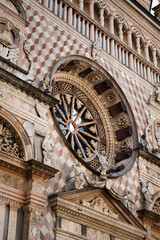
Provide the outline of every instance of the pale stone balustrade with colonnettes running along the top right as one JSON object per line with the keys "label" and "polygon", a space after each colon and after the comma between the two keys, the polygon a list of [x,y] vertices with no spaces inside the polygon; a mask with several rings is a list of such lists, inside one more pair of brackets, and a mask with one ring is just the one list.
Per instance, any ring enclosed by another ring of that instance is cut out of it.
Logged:
{"label": "pale stone balustrade with colonnettes running along the top right", "polygon": [[[90,0],[89,14],[83,11],[84,2],[79,1],[79,7],[72,0],[37,0],[44,7],[49,8],[64,22],[73,26],[78,32],[93,42],[100,41],[101,47],[108,54],[118,59],[122,64],[135,71],[139,76],[152,84],[160,82],[160,70],[157,67],[158,51],[152,48],[152,59],[149,61],[149,44],[144,43],[144,56],[141,55],[140,37],[136,37],[136,50],[132,48],[132,29],[127,29],[127,43],[123,42],[123,21],[118,16],[118,35],[114,35],[114,19],[116,15],[108,15],[109,30],[104,27],[104,9],[99,10],[99,23],[94,20],[94,0]],[[116,16],[117,17],[117,16]]]}

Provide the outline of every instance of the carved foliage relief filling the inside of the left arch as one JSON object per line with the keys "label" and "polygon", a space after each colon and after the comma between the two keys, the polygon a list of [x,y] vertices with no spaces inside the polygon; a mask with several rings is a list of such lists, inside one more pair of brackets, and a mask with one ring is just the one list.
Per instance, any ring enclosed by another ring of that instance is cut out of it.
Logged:
{"label": "carved foliage relief filling the inside of the left arch", "polygon": [[0,119],[0,151],[14,157],[24,158],[24,149],[18,134],[9,123]]}

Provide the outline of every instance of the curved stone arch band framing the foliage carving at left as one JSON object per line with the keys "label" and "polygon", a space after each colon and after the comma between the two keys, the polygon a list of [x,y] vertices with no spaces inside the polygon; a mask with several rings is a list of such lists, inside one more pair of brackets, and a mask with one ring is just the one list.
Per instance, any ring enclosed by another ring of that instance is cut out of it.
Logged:
{"label": "curved stone arch band framing the foliage carving at left", "polygon": [[12,113],[10,113],[8,110],[1,106],[0,119],[3,119],[6,123],[9,123],[20,138],[24,149],[25,161],[33,159],[34,154],[30,138],[21,123],[18,121],[18,119]]}

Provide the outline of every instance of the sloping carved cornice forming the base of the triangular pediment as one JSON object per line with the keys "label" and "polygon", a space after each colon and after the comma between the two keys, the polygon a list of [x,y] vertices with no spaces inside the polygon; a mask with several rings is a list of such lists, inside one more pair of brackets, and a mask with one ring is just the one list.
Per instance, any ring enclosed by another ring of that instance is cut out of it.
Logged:
{"label": "sloping carved cornice forming the base of the triangular pediment", "polygon": [[145,232],[118,219],[109,217],[103,213],[94,211],[80,204],[72,203],[70,200],[54,196],[50,199],[51,207],[57,216],[84,224],[89,227],[101,228],[103,232],[107,230],[125,236],[128,239],[143,239]]}

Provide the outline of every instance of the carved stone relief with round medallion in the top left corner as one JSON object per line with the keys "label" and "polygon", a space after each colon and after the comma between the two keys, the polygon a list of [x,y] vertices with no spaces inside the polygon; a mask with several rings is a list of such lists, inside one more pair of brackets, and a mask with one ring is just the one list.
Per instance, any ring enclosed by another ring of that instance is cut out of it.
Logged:
{"label": "carved stone relief with round medallion in the top left corner", "polygon": [[4,0],[0,2],[0,16],[0,56],[22,67],[22,58],[28,61],[22,49],[28,24],[25,11],[19,1]]}

